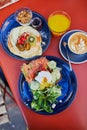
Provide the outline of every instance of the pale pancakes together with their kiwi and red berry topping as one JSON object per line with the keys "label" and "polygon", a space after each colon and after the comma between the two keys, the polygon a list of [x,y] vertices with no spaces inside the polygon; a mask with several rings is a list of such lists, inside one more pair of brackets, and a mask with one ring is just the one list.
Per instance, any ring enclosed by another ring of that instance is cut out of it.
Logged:
{"label": "pale pancakes together with their kiwi and red berry topping", "polygon": [[42,38],[31,26],[19,26],[11,30],[8,36],[9,50],[20,57],[31,58],[42,54]]}

